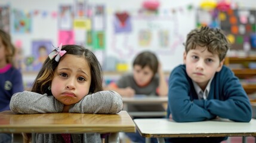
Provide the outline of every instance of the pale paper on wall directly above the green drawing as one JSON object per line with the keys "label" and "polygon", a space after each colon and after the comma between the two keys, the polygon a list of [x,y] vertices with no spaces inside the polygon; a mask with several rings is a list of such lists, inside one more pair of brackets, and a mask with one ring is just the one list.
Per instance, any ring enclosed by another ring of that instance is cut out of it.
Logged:
{"label": "pale paper on wall directly above the green drawing", "polygon": [[102,31],[106,29],[105,16],[106,15],[105,15],[104,5],[95,5],[95,7],[93,8],[93,16],[92,16],[93,30]]}

